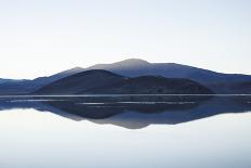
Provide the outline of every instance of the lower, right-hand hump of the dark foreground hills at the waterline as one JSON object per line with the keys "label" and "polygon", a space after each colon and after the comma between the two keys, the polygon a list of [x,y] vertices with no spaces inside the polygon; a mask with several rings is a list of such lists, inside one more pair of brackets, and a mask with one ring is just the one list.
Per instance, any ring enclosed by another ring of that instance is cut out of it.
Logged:
{"label": "lower, right-hand hump of the dark foreground hills at the waterline", "polygon": [[81,93],[106,94],[210,94],[211,90],[189,79],[141,76],[93,88]]}

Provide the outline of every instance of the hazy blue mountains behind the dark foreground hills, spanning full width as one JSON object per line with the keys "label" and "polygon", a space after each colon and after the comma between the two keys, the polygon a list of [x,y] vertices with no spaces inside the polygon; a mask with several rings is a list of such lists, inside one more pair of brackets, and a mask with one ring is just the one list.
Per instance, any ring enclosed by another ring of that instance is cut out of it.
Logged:
{"label": "hazy blue mountains behind the dark foreground hills, spanning full width", "polygon": [[[189,79],[199,82],[201,86],[208,87],[213,90],[214,93],[251,93],[251,76],[249,75],[222,74],[174,63],[148,63],[143,60],[130,59],[114,64],[97,64],[88,68],[76,67],[49,77],[39,77],[34,80],[0,79],[0,94],[27,94],[65,77],[70,77],[71,75],[90,69],[108,70],[117,76],[123,76],[121,78],[154,76],[154,80],[157,80],[157,76],[161,76],[164,78]],[[71,82],[74,82],[74,80]],[[95,78],[95,82],[98,82],[97,78]],[[129,80],[129,82],[132,82],[132,80]],[[103,89],[102,92],[107,91]]]}

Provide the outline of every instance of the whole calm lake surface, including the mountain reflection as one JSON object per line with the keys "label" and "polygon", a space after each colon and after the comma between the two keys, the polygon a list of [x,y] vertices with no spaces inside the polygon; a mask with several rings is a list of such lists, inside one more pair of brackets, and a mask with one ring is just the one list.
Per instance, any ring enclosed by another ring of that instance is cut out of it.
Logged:
{"label": "whole calm lake surface, including the mountain reflection", "polygon": [[0,98],[0,168],[250,168],[251,96]]}

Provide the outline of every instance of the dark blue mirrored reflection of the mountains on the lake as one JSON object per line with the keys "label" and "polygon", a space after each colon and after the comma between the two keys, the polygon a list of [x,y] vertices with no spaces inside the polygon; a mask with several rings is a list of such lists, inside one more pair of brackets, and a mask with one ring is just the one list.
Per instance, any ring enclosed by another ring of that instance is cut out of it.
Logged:
{"label": "dark blue mirrored reflection of the mountains on the lake", "polygon": [[225,113],[251,111],[251,96],[24,96],[0,98],[0,111],[35,108],[63,117],[128,129],[174,125]]}

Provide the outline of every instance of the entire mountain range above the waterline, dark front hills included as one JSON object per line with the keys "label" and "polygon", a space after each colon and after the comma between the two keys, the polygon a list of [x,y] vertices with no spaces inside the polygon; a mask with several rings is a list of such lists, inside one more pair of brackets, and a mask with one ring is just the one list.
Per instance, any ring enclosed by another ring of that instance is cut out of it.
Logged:
{"label": "entire mountain range above the waterline, dark front hills included", "polygon": [[[97,69],[100,69],[100,74],[97,73]],[[90,75],[90,72],[93,73],[93,70],[94,74],[91,75],[92,77],[89,76],[89,82],[84,78],[87,77],[87,74]],[[100,78],[98,75],[101,75],[102,70],[103,78]],[[77,79],[76,76],[79,78]],[[116,82],[114,82],[114,80]],[[177,80],[180,81],[180,85],[174,82]],[[49,77],[39,77],[34,80],[0,79],[0,94],[29,94],[42,93],[42,91],[49,93],[49,88],[53,88],[56,85],[58,86],[58,89],[62,89],[61,93],[74,94],[136,93],[135,90],[137,90],[138,93],[191,93],[190,91],[188,91],[190,88],[186,88],[185,90],[180,89],[180,92],[177,92],[179,87],[182,87],[181,83],[183,83],[181,81],[184,81],[185,86],[193,83],[199,88],[203,88],[203,91],[208,90],[207,93],[251,93],[251,76],[249,75],[222,74],[175,63],[149,63],[138,59],[130,59],[113,64],[97,64],[88,68],[75,67]],[[65,90],[65,83],[69,85],[70,87],[68,88],[71,88],[75,91],[63,91]],[[148,83],[148,86],[145,86],[144,83]],[[149,90],[149,88],[155,87],[157,90]],[[167,88],[170,87],[173,89],[173,92],[167,90]],[[51,91],[53,90],[52,88]],[[141,88],[141,90],[138,90],[138,88]],[[148,91],[146,92],[146,90]],[[53,91],[54,92],[51,93],[55,93],[55,90]],[[206,93],[203,91],[201,93]],[[198,90],[195,93],[199,93]]]}

